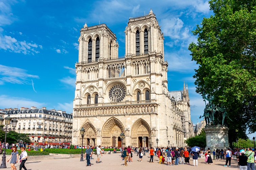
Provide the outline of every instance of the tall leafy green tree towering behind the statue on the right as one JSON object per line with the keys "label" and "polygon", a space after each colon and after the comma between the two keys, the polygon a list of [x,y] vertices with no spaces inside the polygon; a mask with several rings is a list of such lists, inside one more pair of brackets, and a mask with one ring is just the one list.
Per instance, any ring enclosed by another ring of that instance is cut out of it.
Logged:
{"label": "tall leafy green tree towering behind the statue on the right", "polygon": [[[256,132],[256,1],[211,0],[214,15],[204,18],[189,45],[196,92],[214,96],[227,108],[230,132],[247,138]],[[236,136],[230,137],[230,142]]]}

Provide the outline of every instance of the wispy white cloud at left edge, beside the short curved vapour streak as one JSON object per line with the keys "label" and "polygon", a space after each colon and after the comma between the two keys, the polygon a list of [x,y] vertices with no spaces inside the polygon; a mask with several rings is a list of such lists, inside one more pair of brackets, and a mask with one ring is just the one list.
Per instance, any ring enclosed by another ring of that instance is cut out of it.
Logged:
{"label": "wispy white cloud at left edge, beside the short curved vapour streak", "polygon": [[39,79],[39,76],[26,73],[27,70],[17,67],[0,65],[0,85],[7,83],[30,84],[31,78]]}

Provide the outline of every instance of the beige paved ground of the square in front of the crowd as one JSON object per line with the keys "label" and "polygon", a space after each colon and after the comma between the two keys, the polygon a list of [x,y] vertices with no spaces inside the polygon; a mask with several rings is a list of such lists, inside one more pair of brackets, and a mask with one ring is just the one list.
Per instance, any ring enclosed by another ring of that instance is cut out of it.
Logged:
{"label": "beige paved ground of the square in front of the crowd", "polygon": [[[133,162],[128,163],[127,167],[124,167],[124,161],[121,159],[121,153],[104,154],[100,163],[97,164],[95,161],[97,156],[93,154],[93,159],[91,160],[91,166],[86,167],[86,160],[80,162],[80,158],[64,158],[64,159],[52,159],[52,160],[42,160],[42,161],[26,161],[25,166],[28,170],[70,170],[70,169],[145,169],[145,170],[156,170],[156,169],[188,169],[188,170],[227,170],[227,169],[239,169],[237,167],[237,161],[231,161],[231,167],[223,167],[226,161],[216,161],[213,160],[213,165],[208,165],[204,162],[204,159],[198,159],[198,166],[193,166],[193,160],[190,159],[190,165],[178,165],[178,166],[167,166],[167,164],[159,164],[157,157],[154,157],[154,162],[149,163],[148,154],[143,157],[142,162],[138,162],[137,154],[133,154]],[[8,158],[8,157],[7,157]],[[7,168],[10,169],[9,162],[6,162]],[[19,169],[19,163],[17,164],[17,169]]]}

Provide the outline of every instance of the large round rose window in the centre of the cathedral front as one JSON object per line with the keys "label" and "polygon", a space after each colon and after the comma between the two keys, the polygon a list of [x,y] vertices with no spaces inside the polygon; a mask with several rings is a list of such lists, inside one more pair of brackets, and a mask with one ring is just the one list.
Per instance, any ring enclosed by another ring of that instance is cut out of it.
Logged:
{"label": "large round rose window in the centre of the cathedral front", "polygon": [[110,88],[108,96],[112,102],[121,102],[124,100],[126,90],[122,85],[114,85]]}

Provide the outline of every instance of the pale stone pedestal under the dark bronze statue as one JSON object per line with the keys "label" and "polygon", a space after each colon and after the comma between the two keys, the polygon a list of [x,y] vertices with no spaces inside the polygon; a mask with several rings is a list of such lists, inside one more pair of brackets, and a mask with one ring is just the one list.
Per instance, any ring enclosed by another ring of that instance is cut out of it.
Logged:
{"label": "pale stone pedestal under the dark bronze statue", "polygon": [[206,149],[226,149],[229,148],[228,131],[229,128],[223,125],[205,126]]}

